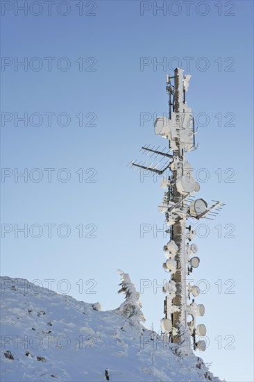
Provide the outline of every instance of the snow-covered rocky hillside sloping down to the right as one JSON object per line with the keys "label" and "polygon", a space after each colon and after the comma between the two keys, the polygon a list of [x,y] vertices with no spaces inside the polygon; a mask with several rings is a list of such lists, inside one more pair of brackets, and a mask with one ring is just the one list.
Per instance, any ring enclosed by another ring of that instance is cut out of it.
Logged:
{"label": "snow-covered rocky hillside sloping down to the right", "polygon": [[127,318],[125,305],[100,309],[1,277],[1,381],[219,382],[192,351],[178,356],[166,338]]}

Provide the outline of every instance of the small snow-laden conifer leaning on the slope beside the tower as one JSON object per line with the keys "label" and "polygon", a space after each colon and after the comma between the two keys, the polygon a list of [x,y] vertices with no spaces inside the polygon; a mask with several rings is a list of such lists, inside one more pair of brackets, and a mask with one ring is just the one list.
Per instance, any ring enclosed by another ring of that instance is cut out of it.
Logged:
{"label": "small snow-laden conifer leaning on the slope beside the tower", "polygon": [[121,276],[121,289],[118,293],[124,293],[125,301],[119,306],[119,313],[130,319],[133,325],[138,325],[140,322],[145,322],[144,314],[141,310],[142,303],[139,301],[140,293],[137,292],[135,285],[131,282],[130,276],[127,273],[118,269]]}

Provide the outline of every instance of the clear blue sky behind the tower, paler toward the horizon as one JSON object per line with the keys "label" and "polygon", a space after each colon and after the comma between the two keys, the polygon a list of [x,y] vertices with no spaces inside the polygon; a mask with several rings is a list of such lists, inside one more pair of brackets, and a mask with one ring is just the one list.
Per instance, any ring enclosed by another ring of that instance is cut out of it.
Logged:
{"label": "clear blue sky behind the tower, paler toward the horizon", "polygon": [[253,2],[1,1],[1,21],[1,274],[108,310],[120,268],[160,329],[163,190],[126,164],[146,159],[142,144],[166,146],[153,119],[181,66],[198,197],[226,204],[196,223],[198,355],[222,379],[253,381]]}

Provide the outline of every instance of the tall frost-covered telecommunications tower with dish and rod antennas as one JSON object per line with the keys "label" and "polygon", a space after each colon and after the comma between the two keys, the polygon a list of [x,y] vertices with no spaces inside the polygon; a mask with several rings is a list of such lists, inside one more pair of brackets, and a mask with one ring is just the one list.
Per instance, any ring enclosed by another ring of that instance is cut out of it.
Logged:
{"label": "tall frost-covered telecommunications tower with dish and rod antennas", "polygon": [[[196,324],[196,317],[204,315],[205,307],[196,304],[193,298],[200,293],[198,286],[187,283],[187,276],[200,263],[196,256],[198,247],[192,243],[196,231],[189,224],[189,218],[213,219],[218,213],[215,210],[221,210],[224,204],[212,201],[208,206],[205,200],[195,199],[192,195],[199,191],[200,186],[192,175],[192,166],[185,155],[197,148],[194,117],[185,99],[190,78],[190,75],[183,76],[183,69],[180,68],[175,69],[174,76],[167,75],[169,117],[158,117],[154,126],[155,134],[169,141],[169,149],[159,150],[160,146],[146,145],[142,147],[144,153],[155,158],[159,156],[161,160],[155,165],[132,160],[130,165],[138,171],[146,169],[159,175],[165,174],[167,170],[169,172],[160,183],[166,191],[159,212],[165,214],[166,232],[169,234],[169,240],[163,247],[167,258],[163,268],[169,272],[169,281],[162,288],[166,297],[161,328],[169,334],[171,342],[178,344],[186,340],[184,337],[187,333],[193,338],[194,349],[204,351],[205,340],[198,340],[197,336],[204,336],[206,328],[204,324]],[[190,304],[189,300],[192,300]],[[181,327],[185,330],[181,330]]]}

